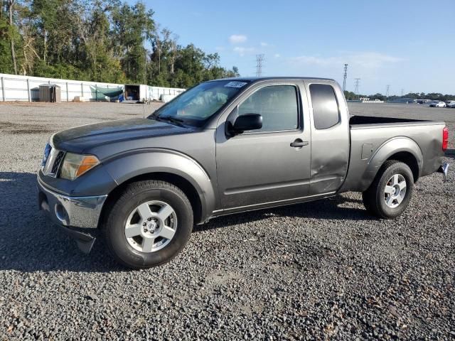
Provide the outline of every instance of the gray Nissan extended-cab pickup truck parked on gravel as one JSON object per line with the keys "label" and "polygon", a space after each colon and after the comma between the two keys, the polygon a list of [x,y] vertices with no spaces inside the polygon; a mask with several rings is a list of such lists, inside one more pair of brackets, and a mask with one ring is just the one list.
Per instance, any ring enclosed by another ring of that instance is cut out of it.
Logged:
{"label": "gray Nissan extended-cab pickup truck parked on gravel", "polygon": [[38,203],[89,252],[163,264],[193,224],[236,212],[363,193],[390,219],[439,171],[444,122],[350,117],[339,85],[303,77],[203,82],[146,119],[60,131],[45,146]]}

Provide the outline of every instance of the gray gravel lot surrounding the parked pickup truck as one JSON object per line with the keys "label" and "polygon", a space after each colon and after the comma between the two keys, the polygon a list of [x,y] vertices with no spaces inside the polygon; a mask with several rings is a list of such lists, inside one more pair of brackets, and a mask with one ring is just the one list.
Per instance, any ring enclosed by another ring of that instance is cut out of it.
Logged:
{"label": "gray gravel lot surrounding the parked pickup truck", "polygon": [[[455,109],[350,109],[448,121],[455,146]],[[100,243],[81,254],[36,207],[45,142],[142,114],[140,104],[0,104],[0,340],[455,339],[454,168],[447,183],[419,180],[392,221],[345,193],[212,220],[155,269],[120,269]]]}

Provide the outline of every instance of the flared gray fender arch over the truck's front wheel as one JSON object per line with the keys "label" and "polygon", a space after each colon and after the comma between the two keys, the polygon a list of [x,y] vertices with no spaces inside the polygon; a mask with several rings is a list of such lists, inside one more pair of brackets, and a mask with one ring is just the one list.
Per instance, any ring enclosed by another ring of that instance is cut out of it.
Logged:
{"label": "flared gray fender arch over the truck's front wheel", "polygon": [[215,190],[208,173],[193,158],[177,151],[143,149],[102,161],[117,185],[138,175],[168,173],[186,179],[198,192],[203,220],[215,210]]}

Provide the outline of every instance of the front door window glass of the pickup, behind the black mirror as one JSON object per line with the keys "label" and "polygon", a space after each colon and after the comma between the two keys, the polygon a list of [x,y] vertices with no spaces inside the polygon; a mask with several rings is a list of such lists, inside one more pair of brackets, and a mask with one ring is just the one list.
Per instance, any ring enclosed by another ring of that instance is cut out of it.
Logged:
{"label": "front door window glass of the pickup, behind the black mirror", "polygon": [[299,126],[299,106],[294,85],[262,87],[239,105],[238,114],[262,115],[262,129],[257,131],[294,130]]}

